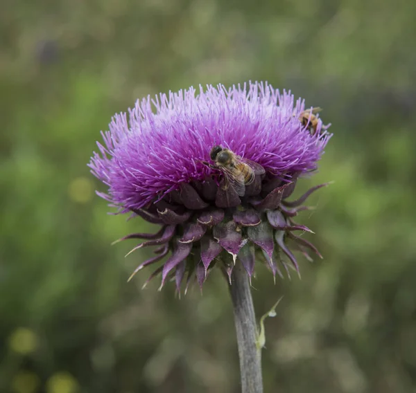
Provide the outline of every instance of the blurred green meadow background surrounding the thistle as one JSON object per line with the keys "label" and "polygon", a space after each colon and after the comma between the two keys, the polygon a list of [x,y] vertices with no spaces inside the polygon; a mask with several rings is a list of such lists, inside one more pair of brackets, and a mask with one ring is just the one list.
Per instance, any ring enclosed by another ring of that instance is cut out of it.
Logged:
{"label": "blurred green meadow background surrounding the thistle", "polygon": [[141,291],[86,166],[111,116],[198,84],[268,80],[324,109],[335,181],[300,221],[323,261],[257,268],[266,392],[416,392],[416,2],[6,1],[0,13],[0,392],[239,392],[220,274]]}

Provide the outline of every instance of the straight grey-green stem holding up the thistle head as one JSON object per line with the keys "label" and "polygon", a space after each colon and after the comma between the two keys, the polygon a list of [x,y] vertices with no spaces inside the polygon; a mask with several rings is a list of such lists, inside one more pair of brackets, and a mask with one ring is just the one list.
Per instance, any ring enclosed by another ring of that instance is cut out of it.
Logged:
{"label": "straight grey-green stem holding up the thistle head", "polygon": [[263,393],[261,350],[257,349],[258,329],[248,275],[236,264],[231,275],[232,306],[239,346],[241,392]]}

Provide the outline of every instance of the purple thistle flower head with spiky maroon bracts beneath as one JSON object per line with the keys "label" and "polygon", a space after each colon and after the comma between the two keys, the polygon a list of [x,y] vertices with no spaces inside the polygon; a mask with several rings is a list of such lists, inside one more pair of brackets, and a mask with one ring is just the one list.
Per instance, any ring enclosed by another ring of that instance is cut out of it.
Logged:
{"label": "purple thistle flower head with spiky maroon bracts beneath", "polygon": [[[294,234],[309,229],[293,217],[322,185],[286,201],[297,179],[316,169],[331,137],[311,113],[290,92],[250,82],[160,94],[138,101],[129,116],[114,116],[89,163],[108,186],[98,195],[119,212],[162,226],[155,235],[121,239],[145,239],[134,249],[158,246],[135,273],[171,252],[150,278],[161,273],[162,286],[175,280],[179,291],[186,273],[187,286],[192,277],[202,285],[214,265],[229,276],[237,260],[250,277],[255,259],[281,275],[279,264],[288,266],[281,254],[297,270],[288,239],[306,257],[308,250],[320,256]],[[234,161],[222,164],[227,149]]]}

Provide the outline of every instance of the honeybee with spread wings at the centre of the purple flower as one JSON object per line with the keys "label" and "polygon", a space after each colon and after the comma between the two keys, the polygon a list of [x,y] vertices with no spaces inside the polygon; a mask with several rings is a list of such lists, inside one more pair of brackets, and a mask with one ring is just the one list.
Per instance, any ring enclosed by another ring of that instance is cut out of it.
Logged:
{"label": "honeybee with spread wings at the centre of the purple flower", "polygon": [[245,185],[251,184],[257,174],[266,172],[261,165],[241,158],[231,150],[218,145],[211,149],[209,156],[214,161],[214,167],[224,174],[225,189],[232,185],[240,197],[245,194]]}

